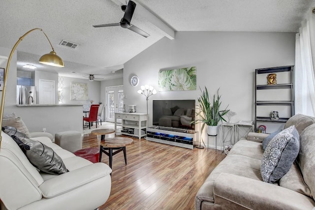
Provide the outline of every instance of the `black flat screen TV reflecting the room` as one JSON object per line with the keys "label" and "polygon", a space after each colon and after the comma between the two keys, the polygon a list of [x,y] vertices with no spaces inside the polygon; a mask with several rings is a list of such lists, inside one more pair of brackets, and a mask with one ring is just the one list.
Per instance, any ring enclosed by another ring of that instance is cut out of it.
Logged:
{"label": "black flat screen TV reflecting the room", "polygon": [[153,100],[153,125],[195,129],[195,100]]}

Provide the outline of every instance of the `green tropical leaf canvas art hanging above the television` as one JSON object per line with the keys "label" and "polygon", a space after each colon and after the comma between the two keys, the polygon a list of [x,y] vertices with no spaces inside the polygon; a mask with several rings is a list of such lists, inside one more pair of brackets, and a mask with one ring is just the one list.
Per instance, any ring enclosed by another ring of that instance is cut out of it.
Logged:
{"label": "green tropical leaf canvas art hanging above the television", "polygon": [[197,76],[195,66],[158,72],[158,91],[196,89]]}

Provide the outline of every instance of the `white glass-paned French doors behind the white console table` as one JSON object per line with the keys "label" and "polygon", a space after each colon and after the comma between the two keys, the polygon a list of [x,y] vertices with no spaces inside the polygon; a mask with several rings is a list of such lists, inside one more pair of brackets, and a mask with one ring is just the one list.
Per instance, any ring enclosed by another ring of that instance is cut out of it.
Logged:
{"label": "white glass-paned French doors behind the white console table", "polygon": [[106,87],[106,121],[114,122],[115,112],[124,112],[124,86]]}

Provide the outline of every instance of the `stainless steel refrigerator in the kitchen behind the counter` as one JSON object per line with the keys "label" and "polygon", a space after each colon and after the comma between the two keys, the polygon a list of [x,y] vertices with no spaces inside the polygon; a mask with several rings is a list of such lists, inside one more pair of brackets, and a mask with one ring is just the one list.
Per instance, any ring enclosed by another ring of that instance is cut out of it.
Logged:
{"label": "stainless steel refrigerator in the kitchen behind the counter", "polygon": [[18,85],[16,87],[17,104],[36,104],[36,87],[35,86],[25,86]]}

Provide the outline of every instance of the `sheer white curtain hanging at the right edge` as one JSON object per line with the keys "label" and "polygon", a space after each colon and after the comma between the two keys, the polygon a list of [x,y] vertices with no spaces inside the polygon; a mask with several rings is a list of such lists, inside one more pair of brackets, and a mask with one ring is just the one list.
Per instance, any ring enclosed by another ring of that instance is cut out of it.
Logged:
{"label": "sheer white curtain hanging at the right edge", "polygon": [[306,17],[295,40],[295,113],[315,116],[315,14]]}

